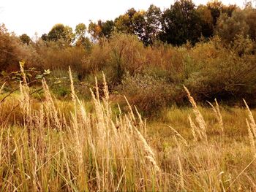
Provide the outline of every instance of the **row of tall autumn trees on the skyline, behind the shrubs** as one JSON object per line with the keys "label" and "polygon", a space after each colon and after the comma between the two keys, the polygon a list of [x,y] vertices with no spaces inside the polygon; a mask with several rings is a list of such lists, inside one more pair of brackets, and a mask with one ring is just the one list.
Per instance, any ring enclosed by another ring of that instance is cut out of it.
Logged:
{"label": "row of tall autumn trees on the skyline, behind the shrubs", "polygon": [[69,26],[58,24],[48,34],[43,34],[42,39],[55,42],[63,39],[68,45],[71,42],[86,45],[86,34],[93,42],[97,42],[102,37],[110,38],[118,32],[134,34],[144,45],[151,45],[156,40],[172,45],[186,42],[195,45],[200,39],[208,39],[214,34],[227,42],[232,42],[237,34],[255,40],[255,18],[255,9],[249,3],[241,9],[236,5],[226,6],[221,1],[210,1],[195,7],[192,1],[180,0],[165,10],[153,4],[147,11],[131,8],[115,20],[91,21],[88,28],[80,23],[75,33]]}

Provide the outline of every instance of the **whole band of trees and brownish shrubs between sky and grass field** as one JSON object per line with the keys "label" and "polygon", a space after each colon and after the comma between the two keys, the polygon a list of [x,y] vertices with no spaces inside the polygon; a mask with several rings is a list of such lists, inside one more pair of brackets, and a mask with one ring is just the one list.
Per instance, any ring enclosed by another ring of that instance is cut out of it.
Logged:
{"label": "whole band of trees and brownish shrubs between sky and grass field", "polygon": [[147,113],[184,104],[183,85],[199,101],[256,104],[255,20],[251,4],[195,7],[181,0],[165,10],[151,5],[88,27],[80,23],[75,31],[56,24],[36,41],[1,25],[0,66],[4,72],[18,70],[20,60],[53,72],[71,66],[78,82],[91,85],[103,71],[115,99],[125,94]]}

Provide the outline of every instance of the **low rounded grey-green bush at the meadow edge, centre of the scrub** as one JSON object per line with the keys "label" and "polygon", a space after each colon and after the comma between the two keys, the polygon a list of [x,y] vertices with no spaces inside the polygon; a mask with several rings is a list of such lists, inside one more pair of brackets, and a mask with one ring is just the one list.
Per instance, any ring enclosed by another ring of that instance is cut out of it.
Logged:
{"label": "low rounded grey-green bush at the meadow edge, centre of the scrub", "polygon": [[159,115],[159,111],[179,98],[174,85],[148,74],[126,74],[118,91],[127,96],[130,104],[138,107],[143,115]]}

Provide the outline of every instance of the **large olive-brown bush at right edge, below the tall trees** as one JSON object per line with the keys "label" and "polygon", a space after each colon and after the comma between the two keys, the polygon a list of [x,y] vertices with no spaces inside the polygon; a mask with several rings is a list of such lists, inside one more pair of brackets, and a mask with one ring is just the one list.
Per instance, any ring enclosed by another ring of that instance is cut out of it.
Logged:
{"label": "large olive-brown bush at right edge, below the tall trees", "polygon": [[[236,41],[239,41],[236,44]],[[256,68],[253,42],[236,39],[224,47],[218,39],[199,44],[190,51],[194,72],[184,81],[197,99],[255,98]],[[246,48],[245,48],[246,47]]]}

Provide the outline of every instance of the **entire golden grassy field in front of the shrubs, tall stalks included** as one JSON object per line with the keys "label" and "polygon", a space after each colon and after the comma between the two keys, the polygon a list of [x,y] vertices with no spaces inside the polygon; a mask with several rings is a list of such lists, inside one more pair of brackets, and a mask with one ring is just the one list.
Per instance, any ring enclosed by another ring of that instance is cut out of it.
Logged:
{"label": "entire golden grassy field in front of the shrubs, tall stalks included", "polygon": [[128,101],[127,112],[110,103],[104,76],[91,101],[69,76],[69,101],[42,81],[41,101],[23,83],[1,102],[1,191],[255,190],[256,112],[246,104],[197,107],[184,88],[191,107],[144,120]]}

